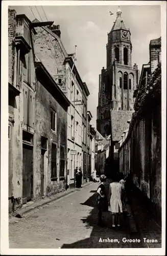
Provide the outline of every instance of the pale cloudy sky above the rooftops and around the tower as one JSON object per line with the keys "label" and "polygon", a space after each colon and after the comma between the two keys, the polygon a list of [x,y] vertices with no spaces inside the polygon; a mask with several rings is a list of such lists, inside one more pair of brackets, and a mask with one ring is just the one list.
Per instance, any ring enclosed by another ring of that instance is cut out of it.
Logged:
{"label": "pale cloudy sky above the rooftops and around the tower", "polygon": [[[42,7],[31,6],[35,17],[46,20]],[[120,6],[126,28],[130,29],[132,42],[132,65],[149,62],[149,43],[160,37],[160,6]],[[12,6],[17,14],[26,14],[32,21],[34,16],[28,6]],[[48,20],[60,25],[61,40],[68,54],[76,52],[76,67],[90,95],[88,110],[96,127],[99,74],[106,68],[107,32],[116,19],[118,6],[43,6]],[[113,13],[110,15],[109,11]]]}

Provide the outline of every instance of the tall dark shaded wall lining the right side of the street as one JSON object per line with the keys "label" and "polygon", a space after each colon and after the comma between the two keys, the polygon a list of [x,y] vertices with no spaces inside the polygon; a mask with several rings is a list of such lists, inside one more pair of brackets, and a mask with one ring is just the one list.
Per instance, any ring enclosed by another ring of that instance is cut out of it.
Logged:
{"label": "tall dark shaded wall lining the right side of the street", "polygon": [[132,119],[133,125],[119,150],[120,172],[132,170],[133,182],[161,220],[161,104],[160,95],[148,101],[151,108]]}

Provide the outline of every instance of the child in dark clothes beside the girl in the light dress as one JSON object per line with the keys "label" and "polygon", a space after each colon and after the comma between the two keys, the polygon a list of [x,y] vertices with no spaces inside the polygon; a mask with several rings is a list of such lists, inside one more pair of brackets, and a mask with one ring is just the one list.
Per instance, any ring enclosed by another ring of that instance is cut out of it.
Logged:
{"label": "child in dark clothes beside the girl in the light dress", "polygon": [[106,210],[107,205],[107,195],[106,195],[106,189],[105,189],[105,183],[106,183],[106,176],[101,175],[100,176],[101,183],[99,184],[97,193],[97,204],[98,204],[98,224],[102,226],[102,211]]}

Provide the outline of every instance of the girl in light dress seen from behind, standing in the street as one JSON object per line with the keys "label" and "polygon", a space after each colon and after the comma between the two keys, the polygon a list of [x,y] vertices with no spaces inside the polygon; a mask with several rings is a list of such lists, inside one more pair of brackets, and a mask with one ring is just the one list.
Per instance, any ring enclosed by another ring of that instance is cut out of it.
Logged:
{"label": "girl in light dress seen from behind, standing in the street", "polygon": [[112,213],[112,227],[115,227],[115,217],[117,217],[117,226],[120,227],[120,215],[123,212],[121,201],[122,185],[118,182],[118,175],[115,175],[112,180],[113,182],[110,183],[108,196],[108,210]]}

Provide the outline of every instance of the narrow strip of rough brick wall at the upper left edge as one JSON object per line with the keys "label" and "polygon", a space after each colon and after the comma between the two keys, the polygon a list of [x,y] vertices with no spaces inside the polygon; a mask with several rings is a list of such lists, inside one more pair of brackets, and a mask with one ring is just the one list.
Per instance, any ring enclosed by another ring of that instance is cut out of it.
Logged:
{"label": "narrow strip of rough brick wall at the upper left edge", "polygon": [[9,65],[9,82],[14,82],[14,59],[15,59],[15,32],[16,32],[16,11],[8,10],[8,65]]}

